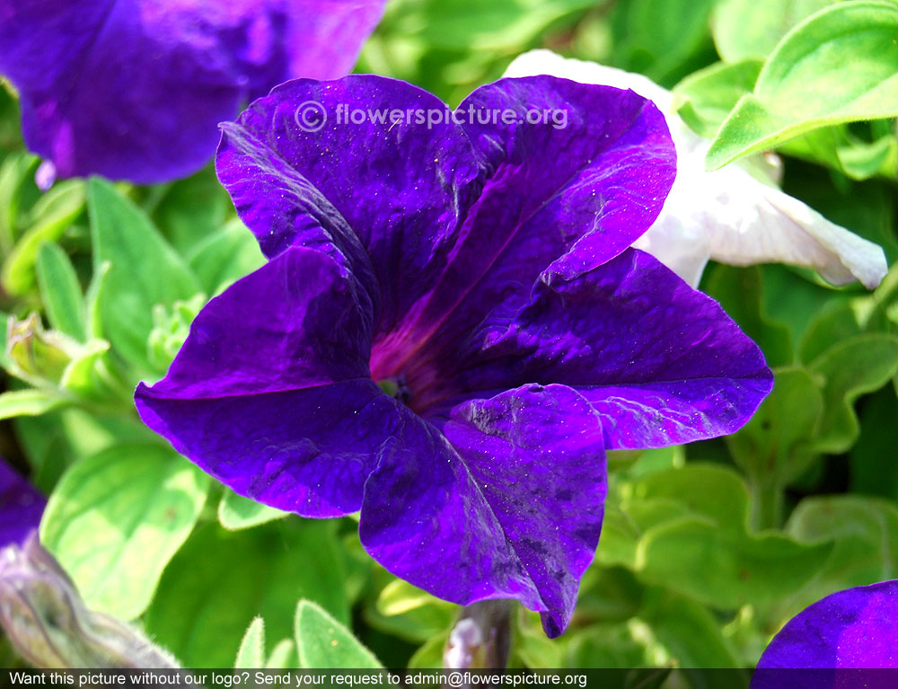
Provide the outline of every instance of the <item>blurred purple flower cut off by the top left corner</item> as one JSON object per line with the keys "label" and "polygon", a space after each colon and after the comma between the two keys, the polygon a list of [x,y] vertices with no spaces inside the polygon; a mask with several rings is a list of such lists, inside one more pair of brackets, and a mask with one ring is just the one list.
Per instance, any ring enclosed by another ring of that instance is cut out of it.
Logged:
{"label": "blurred purple flower cut off by the top left corner", "polygon": [[0,0],[0,75],[44,183],[197,171],[217,124],[296,76],[352,69],[385,0]]}

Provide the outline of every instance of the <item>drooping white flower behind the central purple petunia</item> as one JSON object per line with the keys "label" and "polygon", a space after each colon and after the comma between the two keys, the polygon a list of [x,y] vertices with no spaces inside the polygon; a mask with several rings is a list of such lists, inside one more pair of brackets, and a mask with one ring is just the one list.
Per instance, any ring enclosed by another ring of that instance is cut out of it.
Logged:
{"label": "drooping white flower behind the central purple petunia", "polygon": [[[688,128],[673,110],[672,93],[646,76],[568,59],[550,50],[525,53],[506,71],[506,76],[530,75],[632,89],[664,112],[677,151],[676,181],[661,215],[634,246],[691,285],[698,284],[709,258],[739,266],[791,263],[816,269],[834,285],[859,280],[871,289],[885,277],[888,266],[881,247],[758,181],[743,165],[706,172],[709,139]],[[744,164],[761,165],[771,183],[776,180],[776,156],[753,156]]]}

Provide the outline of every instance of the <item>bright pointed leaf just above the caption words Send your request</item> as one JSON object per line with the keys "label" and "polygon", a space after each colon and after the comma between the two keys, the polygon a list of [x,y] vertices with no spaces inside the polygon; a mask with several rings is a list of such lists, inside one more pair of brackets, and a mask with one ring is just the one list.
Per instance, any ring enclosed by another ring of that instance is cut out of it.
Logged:
{"label": "bright pointed leaf just above the caption words Send your request", "polygon": [[296,649],[301,667],[383,668],[352,632],[309,600],[296,606]]}

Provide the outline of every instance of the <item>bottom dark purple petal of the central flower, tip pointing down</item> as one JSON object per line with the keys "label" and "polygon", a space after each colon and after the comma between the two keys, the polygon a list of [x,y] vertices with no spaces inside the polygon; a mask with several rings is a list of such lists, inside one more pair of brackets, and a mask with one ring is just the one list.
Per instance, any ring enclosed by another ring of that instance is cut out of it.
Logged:
{"label": "bottom dark purple petal of the central flower, tip pointing down", "polygon": [[529,385],[464,402],[440,426],[451,447],[428,424],[383,453],[365,484],[365,549],[456,603],[516,598],[557,636],[602,526],[598,415],[569,388]]}

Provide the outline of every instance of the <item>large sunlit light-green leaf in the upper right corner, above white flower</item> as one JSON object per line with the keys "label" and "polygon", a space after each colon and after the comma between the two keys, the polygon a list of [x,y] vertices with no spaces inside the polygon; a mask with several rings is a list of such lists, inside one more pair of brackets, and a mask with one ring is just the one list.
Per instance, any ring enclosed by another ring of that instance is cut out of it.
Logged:
{"label": "large sunlit light-green leaf in the upper right corner, above white flower", "polygon": [[898,115],[898,4],[850,0],[780,41],[708,152],[709,170],[826,125]]}

